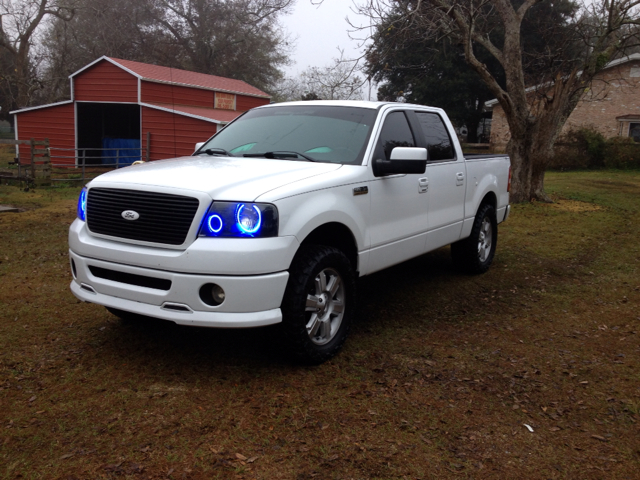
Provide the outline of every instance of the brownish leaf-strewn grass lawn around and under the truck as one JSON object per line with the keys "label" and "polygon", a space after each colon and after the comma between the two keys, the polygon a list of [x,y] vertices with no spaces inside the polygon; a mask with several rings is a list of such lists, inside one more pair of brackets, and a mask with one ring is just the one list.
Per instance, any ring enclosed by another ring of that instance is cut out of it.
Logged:
{"label": "brownish leaf-strewn grass lawn around and under the truck", "polygon": [[362,279],[313,368],[78,302],[79,188],[0,186],[0,478],[637,479],[640,172],[546,185],[485,275],[444,248]]}

